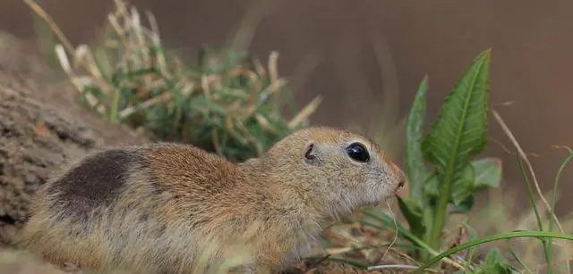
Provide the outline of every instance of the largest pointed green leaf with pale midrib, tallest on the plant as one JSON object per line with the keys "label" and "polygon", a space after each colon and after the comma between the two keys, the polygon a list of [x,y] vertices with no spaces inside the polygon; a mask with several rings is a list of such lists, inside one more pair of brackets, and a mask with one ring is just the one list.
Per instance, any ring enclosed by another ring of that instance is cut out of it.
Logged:
{"label": "largest pointed green leaf with pale midrib, tallest on the plant", "polygon": [[448,179],[453,179],[453,173],[464,166],[470,155],[481,152],[487,142],[489,67],[487,50],[459,79],[423,140],[425,158]]}

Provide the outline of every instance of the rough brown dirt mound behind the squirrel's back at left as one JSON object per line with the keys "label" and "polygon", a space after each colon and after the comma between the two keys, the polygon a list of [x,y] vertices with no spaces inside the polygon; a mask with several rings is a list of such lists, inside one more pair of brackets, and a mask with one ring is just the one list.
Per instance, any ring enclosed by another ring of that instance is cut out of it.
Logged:
{"label": "rough brown dirt mound behind the squirrel's back at left", "polygon": [[66,162],[107,146],[148,141],[77,104],[72,87],[46,85],[30,46],[0,33],[0,241],[26,220],[31,195]]}

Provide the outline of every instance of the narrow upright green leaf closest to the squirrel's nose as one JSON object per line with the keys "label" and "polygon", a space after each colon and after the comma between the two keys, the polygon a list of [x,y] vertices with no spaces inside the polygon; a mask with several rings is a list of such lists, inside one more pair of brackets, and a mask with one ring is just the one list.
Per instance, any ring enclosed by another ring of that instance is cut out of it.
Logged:
{"label": "narrow upright green leaf closest to the squirrel's nose", "polygon": [[423,120],[426,113],[426,91],[428,90],[428,77],[425,76],[418,87],[414,104],[410,109],[406,123],[406,173],[410,187],[410,198],[422,201],[423,184],[430,175],[422,154]]}

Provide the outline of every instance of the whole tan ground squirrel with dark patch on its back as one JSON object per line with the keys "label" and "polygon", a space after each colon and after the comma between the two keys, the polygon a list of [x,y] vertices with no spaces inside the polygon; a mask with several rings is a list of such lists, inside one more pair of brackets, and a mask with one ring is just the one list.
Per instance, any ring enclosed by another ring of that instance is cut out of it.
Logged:
{"label": "whole tan ground squirrel with dark patch on its back", "polygon": [[236,164],[191,145],[111,149],[41,187],[20,240],[95,270],[275,271],[403,184],[377,145],[336,129],[296,131]]}

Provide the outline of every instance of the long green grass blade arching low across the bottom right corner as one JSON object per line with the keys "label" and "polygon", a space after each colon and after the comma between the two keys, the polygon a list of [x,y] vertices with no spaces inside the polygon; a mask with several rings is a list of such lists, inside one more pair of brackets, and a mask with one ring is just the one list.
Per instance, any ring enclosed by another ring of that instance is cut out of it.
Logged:
{"label": "long green grass blade arching low across the bottom right corner", "polygon": [[415,270],[415,273],[420,273],[422,270],[432,266],[432,264],[434,264],[436,262],[440,262],[441,259],[448,257],[449,255],[451,255],[453,253],[458,253],[462,250],[466,250],[467,248],[470,248],[470,247],[473,247],[476,245],[482,245],[485,243],[489,243],[489,242],[493,242],[493,241],[497,241],[497,240],[502,240],[502,239],[510,239],[510,238],[514,238],[514,237],[544,237],[544,238],[558,238],[558,239],[565,239],[565,240],[573,241],[573,235],[571,235],[571,234],[561,234],[561,233],[547,232],[547,231],[514,231],[514,232],[509,232],[509,233],[496,234],[496,235],[468,241],[464,244],[458,245],[458,246],[451,248],[451,249],[449,249],[443,253],[440,253],[438,256],[433,257],[432,260],[430,260],[429,262],[425,263],[423,266],[421,266],[417,270]]}

